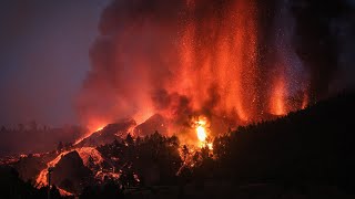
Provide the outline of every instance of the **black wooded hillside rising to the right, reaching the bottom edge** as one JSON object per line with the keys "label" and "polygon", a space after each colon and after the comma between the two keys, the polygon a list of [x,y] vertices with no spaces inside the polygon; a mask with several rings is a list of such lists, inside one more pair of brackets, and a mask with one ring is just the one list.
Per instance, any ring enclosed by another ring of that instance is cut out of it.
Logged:
{"label": "black wooded hillside rising to the right, reaching the bottom edge", "polygon": [[[111,132],[126,132],[131,123],[109,125],[94,135],[95,139],[91,137],[95,142],[104,140],[100,147],[92,148],[100,157],[94,158],[94,154],[89,153],[83,158],[77,145],[77,151],[71,156],[58,156],[63,158],[55,165],[53,180],[60,184],[57,185],[60,188],[78,192],[83,189],[79,185],[94,189],[98,186],[92,186],[99,184],[100,187],[102,179],[110,179],[126,188],[128,198],[159,198],[161,195],[205,198],[212,190],[212,198],[214,195],[243,198],[245,192],[245,196],[251,196],[263,191],[266,192],[261,196],[294,196],[300,192],[311,196],[311,192],[316,192],[315,196],[332,193],[333,198],[338,198],[354,193],[354,102],[355,93],[343,94],[274,121],[241,126],[216,137],[213,151],[207,148],[187,149],[190,160],[184,156],[185,146],[180,146],[176,137],[164,137],[158,133],[136,139],[128,135],[108,144],[115,136]],[[108,139],[101,139],[102,135],[109,135],[103,136]],[[84,142],[81,144],[84,146]],[[43,169],[43,165],[33,158],[37,157],[27,157],[14,164],[16,168],[30,166],[30,170],[19,170],[26,179],[36,170]],[[67,179],[77,172],[81,174],[80,178]],[[95,180],[88,180],[92,177]],[[165,190],[161,186],[170,188]]]}

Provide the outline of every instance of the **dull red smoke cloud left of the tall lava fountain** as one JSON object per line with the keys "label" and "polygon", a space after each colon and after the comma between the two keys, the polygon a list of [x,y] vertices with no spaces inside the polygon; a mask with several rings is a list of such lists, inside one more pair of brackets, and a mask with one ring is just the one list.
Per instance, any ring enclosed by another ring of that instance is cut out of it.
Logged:
{"label": "dull red smoke cloud left of the tall lava fountain", "polygon": [[90,126],[92,121],[114,122],[139,112],[190,109],[187,96],[166,91],[180,70],[175,45],[181,28],[189,18],[211,18],[215,6],[222,12],[221,4],[227,2],[200,2],[192,17],[182,0],[113,1],[102,13],[101,35],[90,50],[92,69],[77,101],[82,122]]}

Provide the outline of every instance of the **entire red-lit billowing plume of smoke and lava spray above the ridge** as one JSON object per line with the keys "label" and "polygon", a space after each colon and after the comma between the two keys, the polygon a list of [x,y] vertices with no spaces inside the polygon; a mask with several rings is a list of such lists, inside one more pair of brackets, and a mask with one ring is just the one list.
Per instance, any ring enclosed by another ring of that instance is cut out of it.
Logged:
{"label": "entire red-lit billowing plume of smoke and lava spray above the ridge", "polygon": [[276,1],[261,4],[113,1],[102,14],[78,101],[83,123],[95,129],[159,113],[179,133],[193,116],[235,127],[305,106],[307,78],[283,28],[288,15],[268,10]]}

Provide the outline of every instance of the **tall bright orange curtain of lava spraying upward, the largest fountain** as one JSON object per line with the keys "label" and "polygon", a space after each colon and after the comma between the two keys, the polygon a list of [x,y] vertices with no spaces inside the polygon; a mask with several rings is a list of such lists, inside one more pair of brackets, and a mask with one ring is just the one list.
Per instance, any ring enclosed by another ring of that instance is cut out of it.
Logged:
{"label": "tall bright orange curtain of lava spraying upward, the largest fountain", "polygon": [[255,98],[258,95],[255,3],[250,0],[230,2],[222,15],[212,14],[201,21],[194,14],[204,3],[186,1],[189,20],[181,35],[181,63],[174,81],[179,84],[172,84],[169,91],[189,96],[193,108],[201,109],[214,88],[223,98],[212,109],[215,114],[252,121],[257,117]]}

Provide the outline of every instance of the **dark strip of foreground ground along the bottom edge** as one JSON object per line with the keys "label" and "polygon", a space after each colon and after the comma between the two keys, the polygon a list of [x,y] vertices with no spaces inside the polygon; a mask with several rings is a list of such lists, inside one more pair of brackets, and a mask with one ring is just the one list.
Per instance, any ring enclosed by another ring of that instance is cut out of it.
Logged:
{"label": "dark strip of foreground ground along the bottom edge", "polygon": [[125,191],[130,199],[205,199],[205,198],[237,198],[237,199],[351,199],[354,195],[345,193],[335,186],[303,185],[285,187],[275,184],[254,184],[236,186],[227,182],[205,182],[203,187],[187,185],[181,187],[154,187],[146,189],[130,189]]}

